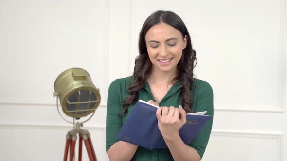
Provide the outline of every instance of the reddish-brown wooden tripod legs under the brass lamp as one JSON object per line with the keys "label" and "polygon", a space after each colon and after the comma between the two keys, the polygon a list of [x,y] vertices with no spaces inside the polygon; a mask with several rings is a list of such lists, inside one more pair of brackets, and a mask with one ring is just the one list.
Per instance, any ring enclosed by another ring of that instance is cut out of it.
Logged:
{"label": "reddish-brown wooden tripod legs under the brass lamp", "polygon": [[76,129],[72,129],[68,131],[68,134],[66,136],[66,146],[65,146],[65,152],[64,152],[64,161],[67,161],[68,159],[68,151],[70,147],[70,161],[73,161],[74,154],[75,154],[75,145],[77,140],[77,134],[79,134],[79,160],[82,161],[82,143],[84,140],[87,153],[89,156],[90,161],[97,161],[96,154],[90,139],[90,133],[86,129],[80,129],[80,123],[76,123]]}

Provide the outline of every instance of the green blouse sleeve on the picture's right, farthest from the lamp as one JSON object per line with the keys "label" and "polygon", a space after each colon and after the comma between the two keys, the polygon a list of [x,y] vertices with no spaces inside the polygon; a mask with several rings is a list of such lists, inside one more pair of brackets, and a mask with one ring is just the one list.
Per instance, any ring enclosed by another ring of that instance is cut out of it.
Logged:
{"label": "green blouse sleeve on the picture's right, farthest from the lamp", "polygon": [[207,111],[205,115],[211,116],[211,119],[200,130],[197,137],[189,144],[189,146],[193,147],[197,151],[200,158],[202,159],[210,137],[213,123],[213,90],[206,81],[202,80],[197,81],[196,88],[197,92],[195,93],[196,99],[194,99],[195,101],[193,102],[193,112]]}

